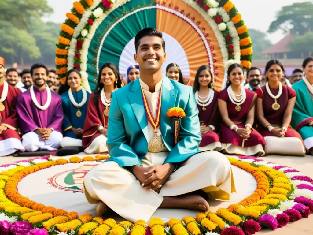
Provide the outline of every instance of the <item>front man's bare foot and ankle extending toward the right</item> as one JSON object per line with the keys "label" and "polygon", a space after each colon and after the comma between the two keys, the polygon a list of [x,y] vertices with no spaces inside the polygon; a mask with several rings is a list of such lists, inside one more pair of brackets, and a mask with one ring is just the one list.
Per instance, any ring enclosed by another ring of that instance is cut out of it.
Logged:
{"label": "front man's bare foot and ankle extending toward the right", "polygon": [[180,197],[163,197],[160,208],[184,208],[190,210],[209,211],[209,203],[202,196],[186,195]]}

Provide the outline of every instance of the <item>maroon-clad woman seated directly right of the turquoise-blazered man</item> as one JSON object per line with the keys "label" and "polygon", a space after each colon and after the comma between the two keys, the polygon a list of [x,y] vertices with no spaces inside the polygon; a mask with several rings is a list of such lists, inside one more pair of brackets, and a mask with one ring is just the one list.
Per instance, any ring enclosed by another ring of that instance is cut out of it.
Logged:
{"label": "maroon-clad woman seated directly right of the turquoise-blazered man", "polygon": [[218,91],[213,89],[213,76],[210,67],[202,65],[198,68],[193,84],[197,101],[199,120],[201,123],[201,151],[222,150],[222,144],[217,134],[221,118],[218,107]]}

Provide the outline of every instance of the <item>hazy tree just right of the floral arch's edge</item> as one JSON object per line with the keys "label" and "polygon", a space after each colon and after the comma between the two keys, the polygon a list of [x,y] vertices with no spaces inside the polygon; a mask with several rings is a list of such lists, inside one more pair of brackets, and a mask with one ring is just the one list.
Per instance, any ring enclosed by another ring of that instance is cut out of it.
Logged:
{"label": "hazy tree just right of the floral arch's edge", "polygon": [[253,59],[262,59],[261,52],[269,48],[272,44],[266,39],[266,34],[255,29],[249,29],[249,35],[252,41]]}

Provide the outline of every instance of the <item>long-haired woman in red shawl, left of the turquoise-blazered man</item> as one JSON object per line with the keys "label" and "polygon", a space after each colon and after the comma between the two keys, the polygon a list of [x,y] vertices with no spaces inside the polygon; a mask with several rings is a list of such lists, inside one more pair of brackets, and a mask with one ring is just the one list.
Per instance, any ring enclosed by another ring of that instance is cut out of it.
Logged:
{"label": "long-haired woman in red shawl, left of the turquoise-blazered man", "polygon": [[112,63],[105,63],[98,75],[97,87],[90,94],[83,132],[83,148],[87,154],[107,152],[111,94],[122,84],[120,73]]}

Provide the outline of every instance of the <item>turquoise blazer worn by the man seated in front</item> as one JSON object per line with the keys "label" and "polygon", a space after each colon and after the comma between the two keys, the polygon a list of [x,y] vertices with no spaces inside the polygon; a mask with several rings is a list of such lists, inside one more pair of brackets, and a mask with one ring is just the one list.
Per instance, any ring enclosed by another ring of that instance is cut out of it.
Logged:
{"label": "turquoise blazer worn by the man seated in front", "polygon": [[[180,107],[186,117],[180,120],[179,142],[175,144],[174,121],[167,110]],[[148,152],[148,121],[139,79],[112,93],[106,145],[111,158],[121,167],[142,165]],[[149,123],[150,125],[150,123]],[[191,86],[163,76],[160,129],[169,154],[164,163],[178,164],[199,153],[201,142],[197,103]]]}

